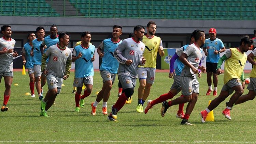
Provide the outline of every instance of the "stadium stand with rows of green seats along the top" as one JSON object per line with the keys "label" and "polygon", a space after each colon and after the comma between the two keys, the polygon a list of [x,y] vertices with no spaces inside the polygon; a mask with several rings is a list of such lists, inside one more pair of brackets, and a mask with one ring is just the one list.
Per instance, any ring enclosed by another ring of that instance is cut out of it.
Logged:
{"label": "stadium stand with rows of green seats along the top", "polygon": [[[69,0],[58,3],[66,13],[56,12],[53,0],[5,0],[1,1],[1,15],[71,16],[71,11],[75,11],[72,16],[77,17],[256,20],[256,0]],[[68,4],[73,10],[67,10]]]}

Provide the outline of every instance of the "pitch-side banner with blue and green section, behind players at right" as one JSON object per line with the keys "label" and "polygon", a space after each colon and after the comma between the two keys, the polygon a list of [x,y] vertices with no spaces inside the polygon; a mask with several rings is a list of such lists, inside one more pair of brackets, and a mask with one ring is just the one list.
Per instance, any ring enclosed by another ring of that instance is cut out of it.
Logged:
{"label": "pitch-side banner with blue and green section, behind players at right", "polygon": [[[176,48],[164,48],[165,51],[165,55],[161,58],[161,69],[169,69],[169,64],[170,64],[170,60],[172,58],[172,55],[175,53],[177,49]],[[252,50],[249,50],[246,52],[246,54],[250,54],[252,52]],[[223,56],[225,52],[220,53],[220,57]],[[206,56],[204,55],[204,52],[202,53],[202,65],[205,66],[206,63]],[[174,63],[174,69],[176,68],[176,61]],[[224,63],[221,66],[222,69],[224,69]],[[246,61],[245,70],[251,70],[252,69],[252,64],[249,63],[248,61]]]}

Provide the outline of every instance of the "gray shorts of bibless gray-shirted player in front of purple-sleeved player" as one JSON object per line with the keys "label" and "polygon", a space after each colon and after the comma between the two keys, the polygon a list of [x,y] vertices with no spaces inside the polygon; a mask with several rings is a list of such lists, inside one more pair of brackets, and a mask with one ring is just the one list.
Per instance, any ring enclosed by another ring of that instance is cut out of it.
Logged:
{"label": "gray shorts of bibless gray-shirted player in front of purple-sleeved player", "polygon": [[197,78],[193,76],[191,77],[181,76],[181,87],[182,87],[182,94],[184,96],[191,95],[192,93],[199,94],[199,82],[197,81]]}

